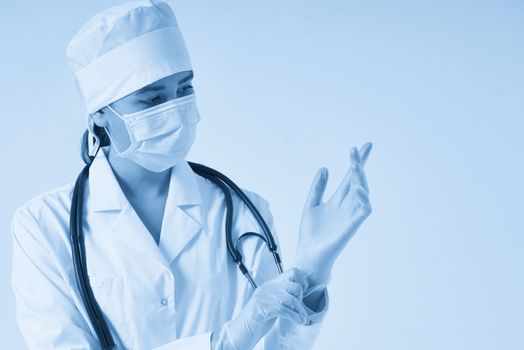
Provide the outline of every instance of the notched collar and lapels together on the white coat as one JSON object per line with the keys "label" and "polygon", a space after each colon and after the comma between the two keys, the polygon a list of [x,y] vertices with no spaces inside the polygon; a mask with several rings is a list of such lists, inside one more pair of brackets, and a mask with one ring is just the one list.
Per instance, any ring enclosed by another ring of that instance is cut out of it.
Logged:
{"label": "notched collar and lapels together on the white coat", "polygon": [[103,149],[91,165],[89,186],[93,212],[118,214],[109,227],[111,236],[166,268],[204,226],[198,175],[185,160],[171,169],[158,245],[126,199]]}

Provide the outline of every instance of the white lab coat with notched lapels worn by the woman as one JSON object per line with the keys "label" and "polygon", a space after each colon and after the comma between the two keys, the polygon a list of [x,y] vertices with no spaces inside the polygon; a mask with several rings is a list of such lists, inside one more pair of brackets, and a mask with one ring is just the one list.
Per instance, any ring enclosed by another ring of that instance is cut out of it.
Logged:
{"label": "white lab coat with notched lapels worn by the woman", "polygon": [[[253,293],[227,251],[222,191],[187,162],[173,167],[157,245],[104,152],[91,165],[82,224],[90,283],[118,348],[209,350],[212,331],[233,319]],[[100,348],[71,259],[73,187],[70,183],[35,197],[12,220],[11,281],[17,322],[30,349]],[[267,201],[244,191],[278,244]],[[260,232],[236,195],[233,206],[235,240],[247,231]],[[258,285],[278,275],[262,240],[242,241],[246,267]],[[311,349],[328,306],[325,290],[321,310],[308,310],[315,324],[279,319],[255,349]]]}

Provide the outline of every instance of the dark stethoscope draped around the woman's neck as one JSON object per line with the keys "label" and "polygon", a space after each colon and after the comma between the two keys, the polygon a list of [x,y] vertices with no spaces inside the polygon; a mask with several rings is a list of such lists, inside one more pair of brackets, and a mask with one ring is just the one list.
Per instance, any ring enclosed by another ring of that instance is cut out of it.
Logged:
{"label": "dark stethoscope draped around the woman's neck", "polygon": [[[98,150],[100,150],[100,148]],[[280,260],[280,255],[277,253],[277,245],[275,243],[273,235],[271,234],[271,231],[267,226],[264,218],[262,217],[262,215],[260,215],[257,208],[253,205],[253,203],[249,200],[245,193],[232,180],[230,180],[227,176],[218,172],[217,170],[198,163],[188,162],[188,164],[191,166],[195,173],[211,180],[224,192],[227,209],[225,223],[227,249],[229,251],[229,255],[231,255],[231,258],[238,265],[238,268],[240,269],[242,274],[247,278],[253,289],[257,288],[257,284],[255,283],[248,269],[242,262],[242,254],[240,254],[238,250],[238,243],[242,238],[247,236],[256,236],[262,239],[266,243],[269,251],[273,254],[273,258],[275,259],[275,264],[277,265],[279,273],[282,273],[282,261]],[[75,188],[73,190],[73,199],[71,202],[71,213],[69,220],[71,231],[71,250],[73,255],[73,266],[75,269],[76,281],[79,286],[82,302],[84,303],[87,314],[89,316],[91,324],[93,325],[93,328],[95,329],[95,333],[98,337],[100,345],[102,346],[102,349],[116,349],[115,342],[113,340],[111,332],[109,331],[109,327],[104,318],[104,315],[102,314],[102,310],[100,309],[100,306],[98,305],[95,299],[87,275],[84,235],[82,232],[82,208],[83,189],[89,177],[90,166],[91,164],[87,164],[82,169],[82,171],[78,175],[78,178],[76,179]],[[231,220],[233,218],[233,200],[228,186],[236,192],[236,194],[247,205],[251,213],[255,216],[258,224],[262,228],[264,236],[256,232],[245,232],[244,234],[239,236],[236,243],[233,244],[233,237],[231,234]]]}

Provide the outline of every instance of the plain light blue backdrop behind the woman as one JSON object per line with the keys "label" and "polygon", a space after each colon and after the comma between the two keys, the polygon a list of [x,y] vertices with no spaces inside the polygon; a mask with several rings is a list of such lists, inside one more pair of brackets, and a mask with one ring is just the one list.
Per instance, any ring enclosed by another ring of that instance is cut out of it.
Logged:
{"label": "plain light blue backdrop behind the woman", "polygon": [[[65,47],[118,3],[2,6],[2,348],[23,348],[12,213],[82,166]],[[524,2],[170,3],[202,115],[188,159],[268,199],[286,266],[316,169],[331,195],[350,146],[374,143],[374,211],[337,261],[318,349],[524,348]]]}

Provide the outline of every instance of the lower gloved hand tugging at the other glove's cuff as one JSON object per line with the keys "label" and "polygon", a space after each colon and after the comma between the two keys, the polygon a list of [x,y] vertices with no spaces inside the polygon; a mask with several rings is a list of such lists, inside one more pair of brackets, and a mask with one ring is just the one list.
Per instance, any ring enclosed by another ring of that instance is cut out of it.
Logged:
{"label": "lower gloved hand tugging at the other glove's cuff", "polygon": [[[223,338],[226,333],[228,341],[234,344],[233,348],[252,349],[273,327],[277,317],[308,324],[309,316],[302,302],[302,293],[306,288],[306,275],[296,268],[267,281],[253,292],[238,316],[224,324],[218,338]],[[228,348],[215,346],[212,348]]]}

